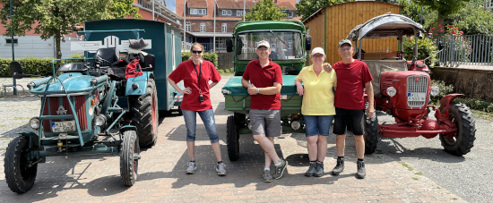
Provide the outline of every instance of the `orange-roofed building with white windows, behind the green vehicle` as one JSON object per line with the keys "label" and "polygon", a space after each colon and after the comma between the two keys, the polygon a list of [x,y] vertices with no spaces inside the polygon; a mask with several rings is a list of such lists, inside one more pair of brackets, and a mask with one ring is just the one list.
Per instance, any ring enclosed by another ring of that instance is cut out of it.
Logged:
{"label": "orange-roofed building with white windows, behind the green vehicle", "polygon": [[[258,2],[258,0],[176,0],[177,15],[184,18],[185,12],[185,42],[193,43],[200,42],[205,47],[206,51],[212,50],[212,41],[214,38],[215,27],[215,43],[216,52],[226,50],[226,38],[232,37],[233,27],[238,21],[243,21],[243,11],[245,12]],[[284,7],[289,12],[285,20],[299,20],[301,17],[296,16],[296,0],[273,0],[277,7]],[[185,7],[185,9],[184,9]],[[215,10],[215,13],[214,13]],[[215,16],[214,16],[215,14]],[[214,25],[215,17],[215,25]],[[183,27],[182,27],[183,28]],[[182,33],[183,34],[183,33]]]}

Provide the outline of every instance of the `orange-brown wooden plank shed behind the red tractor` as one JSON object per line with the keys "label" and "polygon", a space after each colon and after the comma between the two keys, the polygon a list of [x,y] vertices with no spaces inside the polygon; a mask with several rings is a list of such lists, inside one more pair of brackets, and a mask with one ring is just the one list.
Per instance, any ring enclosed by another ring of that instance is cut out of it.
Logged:
{"label": "orange-brown wooden plank shed behind the red tractor", "polygon": [[[400,13],[403,7],[376,1],[335,4],[318,10],[303,23],[312,38],[312,49],[323,47],[327,55],[325,61],[333,64],[342,60],[337,54],[338,43],[348,36],[350,30],[378,15]],[[395,38],[365,38],[362,47],[367,53],[396,52],[398,43]],[[307,65],[311,63],[307,60]]]}

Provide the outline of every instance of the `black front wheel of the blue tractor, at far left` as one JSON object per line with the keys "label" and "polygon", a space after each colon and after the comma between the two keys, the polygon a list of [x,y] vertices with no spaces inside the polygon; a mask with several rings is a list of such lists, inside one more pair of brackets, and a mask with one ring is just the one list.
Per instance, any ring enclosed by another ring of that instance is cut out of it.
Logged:
{"label": "black front wheel of the blue tractor, at far left", "polygon": [[28,167],[24,156],[29,140],[23,136],[14,138],[7,147],[4,159],[5,180],[10,190],[22,194],[32,188],[38,173],[38,164]]}

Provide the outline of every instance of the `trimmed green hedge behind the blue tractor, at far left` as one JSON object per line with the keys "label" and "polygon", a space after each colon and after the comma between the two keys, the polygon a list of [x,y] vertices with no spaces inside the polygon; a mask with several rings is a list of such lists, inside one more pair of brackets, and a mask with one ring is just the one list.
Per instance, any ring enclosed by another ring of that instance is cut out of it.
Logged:
{"label": "trimmed green hedge behind the blue tractor, at far left", "polygon": [[[83,58],[83,55],[72,55],[70,58]],[[52,76],[53,68],[51,61],[53,61],[53,59],[55,58],[27,57],[19,58],[15,61],[21,63],[23,67],[22,73],[24,74]],[[10,70],[11,62],[12,58],[0,57],[0,77],[12,77],[12,72]],[[69,62],[82,62],[82,60],[72,60]],[[65,61],[62,61],[62,63],[65,63]]]}

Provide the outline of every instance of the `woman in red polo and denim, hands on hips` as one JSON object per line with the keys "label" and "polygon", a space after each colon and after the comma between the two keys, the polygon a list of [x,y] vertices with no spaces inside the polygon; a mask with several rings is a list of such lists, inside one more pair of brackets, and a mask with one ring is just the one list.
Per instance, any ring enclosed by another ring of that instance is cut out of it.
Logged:
{"label": "woman in red polo and denim, hands on hips", "polygon": [[[218,84],[221,80],[221,75],[217,72],[214,64],[202,59],[203,46],[200,43],[195,42],[192,45],[190,55],[192,55],[192,60],[180,63],[177,69],[171,72],[168,77],[169,84],[179,94],[183,95],[180,108],[185,119],[186,148],[190,156],[190,163],[188,163],[186,173],[195,173],[197,168],[195,165],[195,129],[196,114],[199,114],[211,139],[212,151],[214,151],[218,161],[215,167],[216,172],[219,175],[226,175],[226,165],[222,163],[219,137],[209,94],[209,89]],[[177,86],[177,82],[181,80],[183,80],[185,87],[183,90]],[[209,80],[212,80],[211,84],[209,84]]]}

